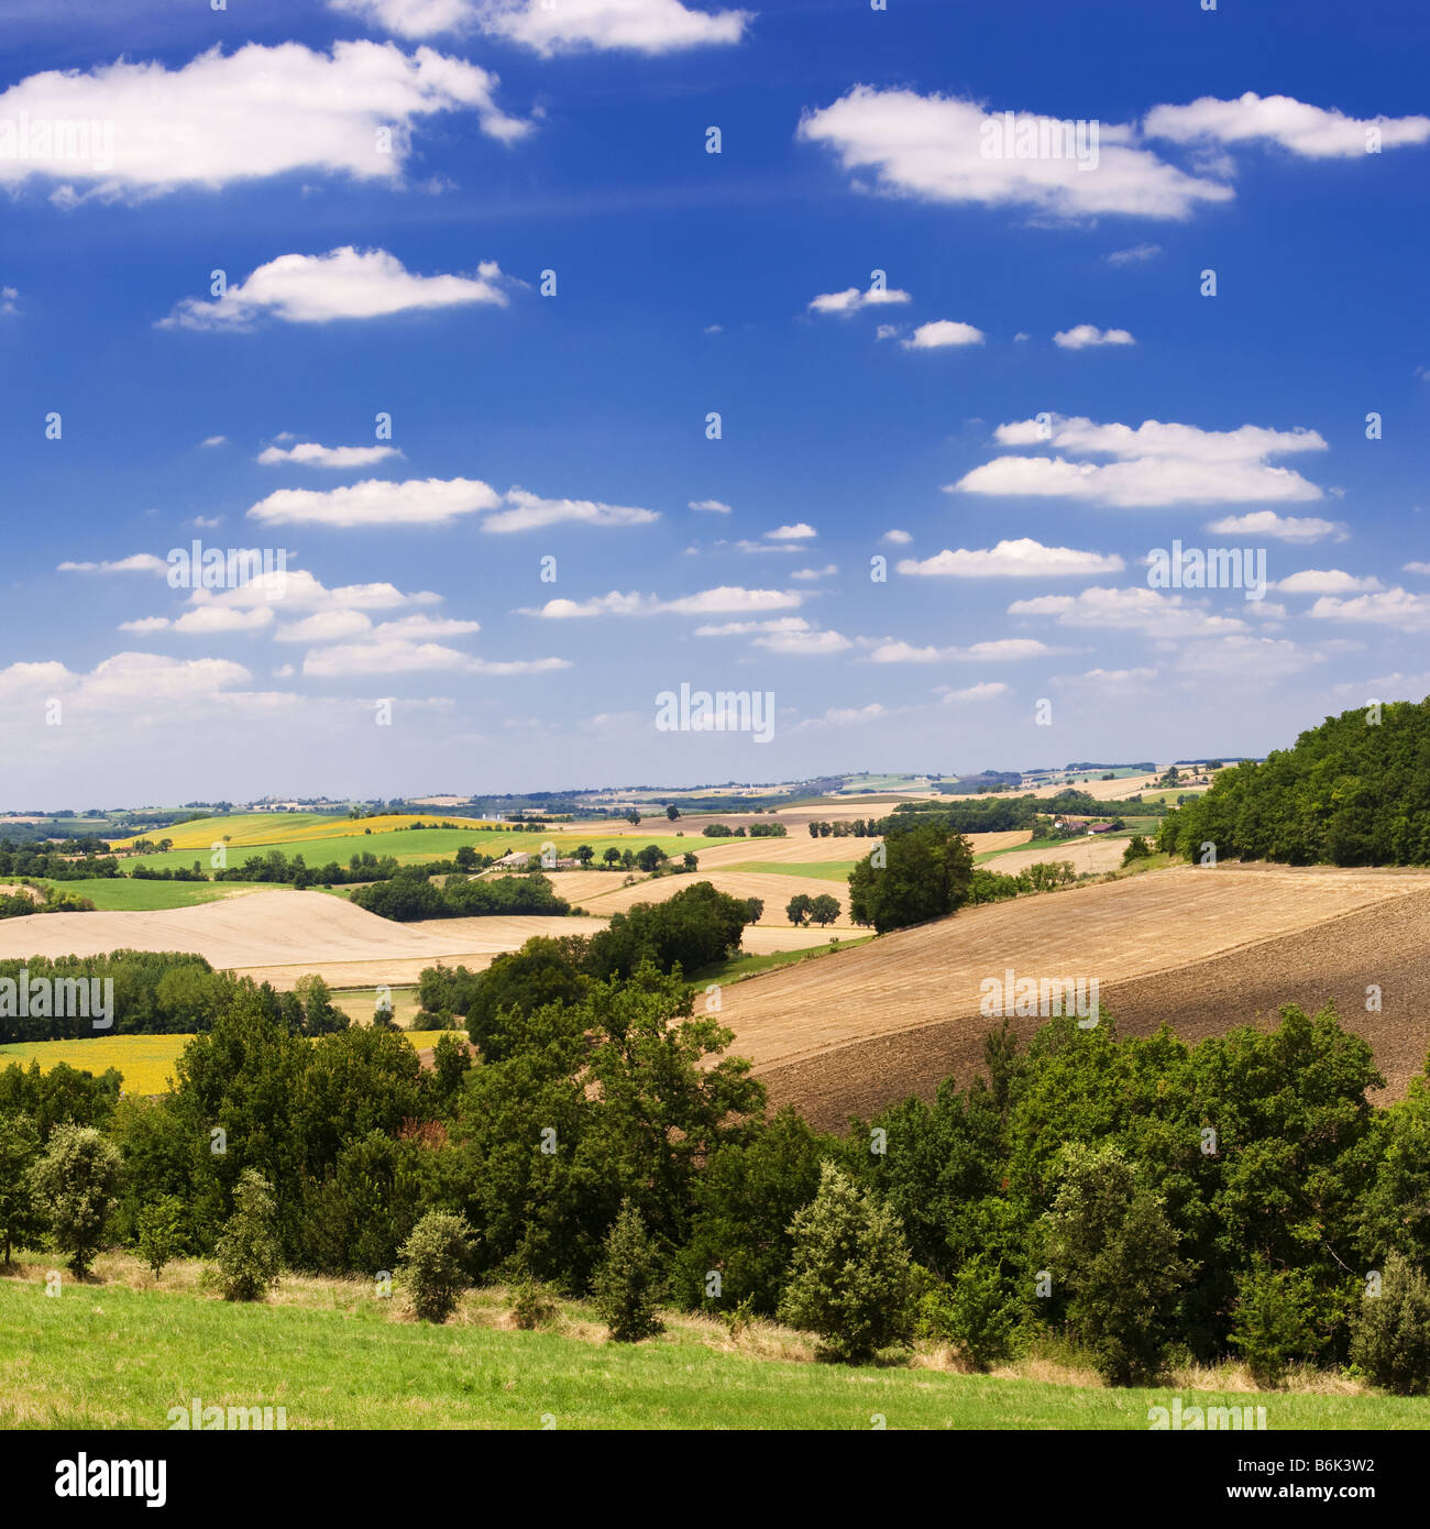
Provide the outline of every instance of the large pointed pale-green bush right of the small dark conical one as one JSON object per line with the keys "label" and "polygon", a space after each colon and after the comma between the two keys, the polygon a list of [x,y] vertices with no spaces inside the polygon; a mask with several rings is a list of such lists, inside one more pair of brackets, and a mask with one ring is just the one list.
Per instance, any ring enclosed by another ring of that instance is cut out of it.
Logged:
{"label": "large pointed pale-green bush right of the small dark conical one", "polygon": [[832,1359],[867,1359],[912,1333],[908,1248],[899,1219],[834,1164],[791,1223],[794,1258],[780,1318],[820,1336]]}

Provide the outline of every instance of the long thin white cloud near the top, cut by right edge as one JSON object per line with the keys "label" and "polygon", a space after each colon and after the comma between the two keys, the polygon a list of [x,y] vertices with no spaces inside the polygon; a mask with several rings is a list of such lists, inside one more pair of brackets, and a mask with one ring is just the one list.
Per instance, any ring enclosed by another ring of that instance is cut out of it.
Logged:
{"label": "long thin white cloud near the top, cut by right edge", "polygon": [[1306,106],[1294,96],[1259,96],[1254,90],[1234,101],[1202,96],[1190,106],[1153,107],[1142,121],[1150,138],[1178,144],[1279,144],[1308,159],[1354,159],[1367,151],[1375,130],[1384,148],[1430,141],[1430,116],[1354,118]]}

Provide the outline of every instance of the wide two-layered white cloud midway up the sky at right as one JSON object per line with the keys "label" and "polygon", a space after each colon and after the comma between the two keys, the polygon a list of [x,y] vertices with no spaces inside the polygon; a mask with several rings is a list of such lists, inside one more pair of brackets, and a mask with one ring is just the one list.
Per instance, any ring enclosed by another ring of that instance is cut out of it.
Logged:
{"label": "wide two-layered white cloud midway up the sky at right", "polygon": [[994,457],[965,472],[945,492],[1072,498],[1097,505],[1150,506],[1188,502],[1308,500],[1321,491],[1291,468],[1268,465],[1286,453],[1324,451],[1314,430],[1198,430],[1149,419],[1098,425],[1054,416],[1051,440],[1035,419],[999,425],[1006,446],[1049,445],[1077,456],[1110,456],[1110,463],[1071,462],[1063,456]]}

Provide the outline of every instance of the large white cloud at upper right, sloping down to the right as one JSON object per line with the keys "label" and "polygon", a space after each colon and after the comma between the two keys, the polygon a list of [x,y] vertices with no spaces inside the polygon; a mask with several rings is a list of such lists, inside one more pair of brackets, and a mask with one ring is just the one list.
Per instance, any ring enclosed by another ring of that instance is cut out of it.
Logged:
{"label": "large white cloud at upper right, sloping down to the right", "polygon": [[[834,106],[806,113],[798,136],[832,150],[850,173],[870,171],[876,190],[927,202],[1029,206],[1060,217],[1182,219],[1199,203],[1233,197],[1230,187],[1184,174],[1139,147],[1132,127],[1100,124],[1097,165],[1084,170],[1069,154],[985,154],[991,138],[983,124],[990,121],[1002,127],[1002,115],[990,119],[974,101],[855,86]],[[1017,128],[1040,135],[1060,124],[1019,113]]]}

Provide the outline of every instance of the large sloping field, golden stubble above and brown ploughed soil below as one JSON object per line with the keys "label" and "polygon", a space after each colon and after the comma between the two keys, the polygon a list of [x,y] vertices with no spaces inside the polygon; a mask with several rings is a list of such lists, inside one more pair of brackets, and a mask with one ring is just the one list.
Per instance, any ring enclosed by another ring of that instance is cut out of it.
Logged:
{"label": "large sloping field, golden stubble above and brown ploughed soil below", "polygon": [[[1328,950],[1332,940],[1343,957]],[[1340,983],[1360,994],[1343,1014],[1375,1044],[1395,1083],[1390,1098],[1430,1046],[1430,1014],[1418,1000],[1430,994],[1427,946],[1425,873],[1173,867],[967,908],[769,972],[731,988],[722,1020],[736,1032],[731,1050],[756,1063],[772,1104],[840,1127],[908,1093],[931,1096],[945,1076],[967,1081],[996,1023],[979,1012],[979,983],[1008,968],[1020,977],[1097,977],[1124,1034],[1162,1018],[1181,1029],[1185,1011],[1188,1038],[1298,994],[1315,1003]],[[1204,972],[1220,986],[1191,1001]],[[1360,1012],[1367,983],[1383,986],[1383,1014]],[[1029,1035],[1043,1021],[1012,1023]]]}

